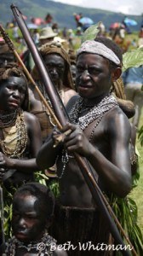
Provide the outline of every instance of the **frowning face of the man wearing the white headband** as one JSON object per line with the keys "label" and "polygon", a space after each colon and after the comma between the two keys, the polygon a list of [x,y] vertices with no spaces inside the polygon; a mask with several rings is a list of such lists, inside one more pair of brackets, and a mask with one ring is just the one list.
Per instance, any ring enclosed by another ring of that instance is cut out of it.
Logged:
{"label": "frowning face of the man wearing the white headband", "polygon": [[80,96],[95,98],[106,95],[112,85],[109,61],[95,54],[81,54],[77,59],[76,88]]}

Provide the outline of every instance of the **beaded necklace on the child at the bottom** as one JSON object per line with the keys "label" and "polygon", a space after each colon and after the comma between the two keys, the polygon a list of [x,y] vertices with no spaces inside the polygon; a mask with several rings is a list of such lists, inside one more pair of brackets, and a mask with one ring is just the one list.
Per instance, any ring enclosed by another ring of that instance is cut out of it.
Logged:
{"label": "beaded necklace on the child at the bottom", "polygon": [[25,248],[27,252],[31,252],[31,250],[36,250],[37,256],[53,256],[53,251],[50,250],[52,243],[56,243],[52,236],[49,236],[47,232],[43,234],[41,241],[33,242],[31,241],[29,244],[26,244],[13,236],[6,242],[6,250],[3,253],[3,256],[14,256],[16,253],[16,249]]}

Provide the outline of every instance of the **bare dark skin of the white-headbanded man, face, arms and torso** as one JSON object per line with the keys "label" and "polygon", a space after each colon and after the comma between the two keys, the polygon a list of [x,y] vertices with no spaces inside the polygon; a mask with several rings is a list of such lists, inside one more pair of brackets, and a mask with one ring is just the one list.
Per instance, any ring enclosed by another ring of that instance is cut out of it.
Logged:
{"label": "bare dark skin of the white-headbanded man, face, arms and torso", "polygon": [[[112,68],[110,62],[95,54],[82,53],[77,58],[76,87],[87,106],[93,107],[108,95],[112,82],[121,75],[121,68]],[[72,108],[72,106],[71,106]],[[79,116],[87,113],[83,108]],[[131,170],[129,156],[129,139],[131,136],[129,120],[119,107],[114,107],[107,112],[95,128],[91,142],[89,137],[96,124],[91,123],[83,132],[78,125],[67,123],[62,131],[72,130],[66,136],[63,146],[69,153],[81,154],[99,177],[100,187],[108,194],[114,192],[124,197],[131,189]],[[56,131],[53,131],[53,135]],[[52,136],[53,136],[52,135]],[[40,168],[53,166],[61,147],[54,148],[52,136],[43,144],[37,154],[37,165]],[[62,164],[59,158],[57,162],[58,174],[62,172]],[[66,170],[60,178],[60,201],[69,207],[94,207],[95,203],[85,182],[83,175],[77,166],[77,162],[70,158]]]}

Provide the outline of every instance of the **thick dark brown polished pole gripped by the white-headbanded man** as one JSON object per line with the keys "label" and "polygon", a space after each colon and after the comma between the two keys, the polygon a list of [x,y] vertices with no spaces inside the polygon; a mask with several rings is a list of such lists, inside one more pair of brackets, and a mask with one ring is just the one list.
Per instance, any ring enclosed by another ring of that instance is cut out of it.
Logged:
{"label": "thick dark brown polished pole gripped by the white-headbanded man", "polygon": [[[65,117],[64,114],[62,113],[62,109],[58,108],[58,106],[57,106],[57,104],[58,104],[57,102],[59,102],[57,92],[55,93],[54,85],[52,84],[51,80],[49,79],[49,74],[48,74],[48,72],[47,72],[47,70],[46,70],[46,68],[43,64],[43,61],[41,60],[41,57],[40,57],[40,55],[37,51],[36,45],[34,44],[33,40],[31,39],[31,35],[28,32],[28,29],[26,27],[26,23],[22,19],[20,11],[14,6],[14,4],[11,5],[11,9],[14,13],[14,17],[15,17],[15,19],[16,19],[19,27],[20,27],[20,30],[21,30],[21,32],[22,32],[22,34],[23,34],[23,36],[26,40],[26,44],[28,45],[29,49],[31,50],[31,55],[32,55],[33,60],[35,61],[36,65],[37,65],[39,73],[41,74],[41,77],[43,79],[43,84],[45,86],[45,90],[49,95],[49,99],[50,99],[50,101],[52,103],[52,106],[54,108],[54,112],[55,112],[56,116],[58,117],[58,119],[60,120],[61,125],[62,126],[66,125],[66,119],[68,119],[68,117],[67,116]],[[105,202],[102,200],[101,196],[99,195],[98,189],[96,189],[96,187],[98,186],[97,183],[96,184],[93,183],[92,179],[90,178],[89,169],[85,165],[84,159],[82,157],[80,157],[78,154],[74,154],[74,156],[77,160],[78,165],[81,168],[81,171],[83,173],[83,177],[85,178],[86,182],[88,183],[89,189],[90,189],[95,201],[97,202],[97,204],[100,208],[100,211],[104,214],[106,220],[109,223],[109,226],[110,226],[110,229],[111,229],[111,232],[112,232],[112,236],[114,237],[117,244],[120,244],[123,247],[125,247],[125,245],[123,243],[123,240],[122,240],[122,238],[121,238],[121,236],[120,236],[120,234],[117,230],[117,226],[114,223],[114,221],[112,220],[111,215],[107,211],[106,206],[105,206]],[[101,193],[101,191],[100,191],[100,193]],[[123,251],[122,253],[123,253],[123,255],[126,255],[126,256],[130,255],[129,251]],[[137,253],[134,253],[134,255],[136,256]]]}

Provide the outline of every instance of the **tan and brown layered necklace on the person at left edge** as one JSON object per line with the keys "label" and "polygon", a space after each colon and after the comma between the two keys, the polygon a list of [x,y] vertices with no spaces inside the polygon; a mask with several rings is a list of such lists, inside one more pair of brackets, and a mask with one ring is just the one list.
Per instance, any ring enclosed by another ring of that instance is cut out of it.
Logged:
{"label": "tan and brown layered necklace on the person at left edge", "polygon": [[22,110],[17,112],[15,124],[9,128],[3,128],[3,140],[0,140],[0,147],[3,154],[10,158],[20,158],[26,149],[27,131]]}

